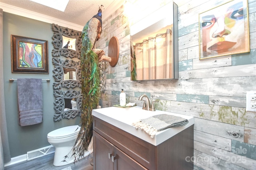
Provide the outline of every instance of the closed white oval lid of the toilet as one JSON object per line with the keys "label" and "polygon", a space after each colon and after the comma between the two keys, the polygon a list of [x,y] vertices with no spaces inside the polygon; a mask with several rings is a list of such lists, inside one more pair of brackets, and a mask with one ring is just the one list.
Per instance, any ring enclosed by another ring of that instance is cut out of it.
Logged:
{"label": "closed white oval lid of the toilet", "polygon": [[48,138],[70,137],[70,136],[78,134],[79,131],[80,131],[80,126],[78,126],[78,125],[67,126],[67,127],[62,127],[60,129],[51,131],[50,133],[48,133],[47,137]]}

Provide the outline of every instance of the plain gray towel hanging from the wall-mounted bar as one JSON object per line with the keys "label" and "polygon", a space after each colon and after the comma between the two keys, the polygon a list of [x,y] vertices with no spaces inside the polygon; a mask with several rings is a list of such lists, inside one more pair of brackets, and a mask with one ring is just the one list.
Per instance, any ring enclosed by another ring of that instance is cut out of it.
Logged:
{"label": "plain gray towel hanging from the wall-mounted bar", "polygon": [[17,88],[19,125],[27,126],[42,123],[42,79],[18,78]]}

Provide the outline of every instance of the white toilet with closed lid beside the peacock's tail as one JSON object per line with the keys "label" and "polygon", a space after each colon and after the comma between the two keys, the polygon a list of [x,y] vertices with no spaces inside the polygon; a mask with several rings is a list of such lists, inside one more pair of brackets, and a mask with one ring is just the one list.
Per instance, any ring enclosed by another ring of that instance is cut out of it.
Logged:
{"label": "white toilet with closed lid beside the peacock's tail", "polygon": [[[79,131],[80,126],[73,125],[62,127],[48,133],[48,142],[55,147],[53,160],[54,166],[63,166],[74,162],[75,158],[74,155],[72,156],[72,154],[74,153],[72,149],[74,147]],[[93,147],[91,141],[88,147],[88,152],[84,154],[84,157],[92,153],[92,150]],[[65,156],[67,157],[65,158]]]}

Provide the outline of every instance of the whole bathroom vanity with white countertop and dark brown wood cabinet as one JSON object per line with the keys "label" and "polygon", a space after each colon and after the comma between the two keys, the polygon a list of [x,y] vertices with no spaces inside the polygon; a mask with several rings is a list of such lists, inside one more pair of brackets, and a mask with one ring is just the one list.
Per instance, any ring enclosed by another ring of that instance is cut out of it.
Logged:
{"label": "whole bathroom vanity with white countertop and dark brown wood cabinet", "polygon": [[[151,138],[132,123],[158,114],[188,119],[182,127],[168,128]],[[193,169],[194,117],[142,107],[94,109],[94,170],[189,170]]]}

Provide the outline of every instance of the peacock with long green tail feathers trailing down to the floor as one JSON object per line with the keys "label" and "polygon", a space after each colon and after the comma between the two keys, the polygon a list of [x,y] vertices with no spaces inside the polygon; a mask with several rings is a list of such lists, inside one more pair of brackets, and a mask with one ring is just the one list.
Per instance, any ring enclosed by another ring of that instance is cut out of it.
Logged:
{"label": "peacock with long green tail feathers trailing down to the floor", "polygon": [[[82,31],[81,74],[82,106],[80,132],[73,147],[75,159],[80,159],[88,151],[92,139],[92,109],[96,109],[100,99],[100,69],[94,45],[102,33],[102,8],[84,26]],[[77,157],[78,156],[78,157]]]}

